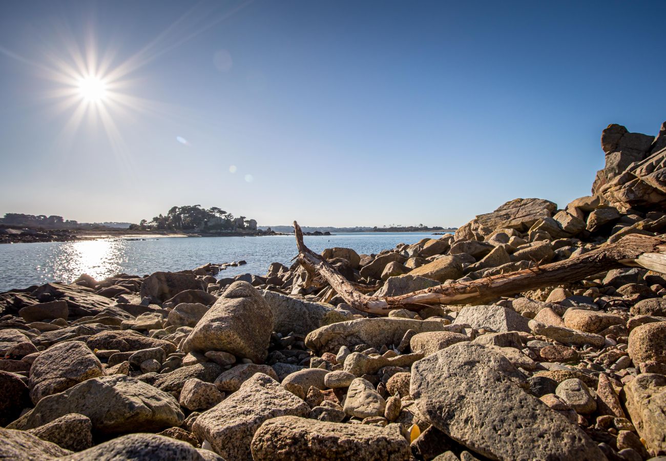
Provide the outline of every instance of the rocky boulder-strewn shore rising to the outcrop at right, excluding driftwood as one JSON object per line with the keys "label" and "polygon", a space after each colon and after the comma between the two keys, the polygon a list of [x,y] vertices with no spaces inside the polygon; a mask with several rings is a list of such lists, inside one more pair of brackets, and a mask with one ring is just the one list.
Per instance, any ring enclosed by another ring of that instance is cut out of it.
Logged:
{"label": "rocky boulder-strewn shore rising to the outcrop at right, excluding driftwood", "polygon": [[[455,236],[322,252],[377,298],[666,238],[666,125],[611,125],[593,195]],[[611,460],[666,455],[666,267],[484,304],[352,308],[296,261],[0,294],[0,458]]]}

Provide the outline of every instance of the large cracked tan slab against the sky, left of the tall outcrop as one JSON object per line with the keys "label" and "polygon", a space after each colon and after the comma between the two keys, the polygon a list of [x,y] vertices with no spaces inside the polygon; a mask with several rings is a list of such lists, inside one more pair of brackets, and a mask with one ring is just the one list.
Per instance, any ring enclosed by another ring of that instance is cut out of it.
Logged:
{"label": "large cracked tan slab against the sky, left of the tall outcrop", "polygon": [[456,240],[469,238],[470,232],[491,234],[496,229],[527,231],[540,218],[550,218],[557,210],[555,203],[543,199],[514,199],[492,213],[478,215],[456,231]]}

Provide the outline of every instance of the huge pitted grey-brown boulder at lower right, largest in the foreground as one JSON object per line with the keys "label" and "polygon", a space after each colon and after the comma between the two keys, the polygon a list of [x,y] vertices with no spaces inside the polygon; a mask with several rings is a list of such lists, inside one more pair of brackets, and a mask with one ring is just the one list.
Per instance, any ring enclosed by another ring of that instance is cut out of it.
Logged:
{"label": "huge pitted grey-brown boulder at lower right, largest in the foreground", "polygon": [[501,354],[454,344],[412,367],[410,393],[436,428],[491,459],[603,460],[577,425],[523,390]]}

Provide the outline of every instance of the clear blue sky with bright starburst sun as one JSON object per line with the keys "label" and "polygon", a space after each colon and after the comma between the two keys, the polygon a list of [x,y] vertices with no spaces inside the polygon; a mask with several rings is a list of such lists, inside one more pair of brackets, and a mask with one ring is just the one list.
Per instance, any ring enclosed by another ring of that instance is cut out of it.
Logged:
{"label": "clear blue sky with bright starburst sun", "polygon": [[606,125],[666,119],[665,17],[661,0],[3,1],[0,213],[458,226],[516,197],[563,207],[589,194]]}

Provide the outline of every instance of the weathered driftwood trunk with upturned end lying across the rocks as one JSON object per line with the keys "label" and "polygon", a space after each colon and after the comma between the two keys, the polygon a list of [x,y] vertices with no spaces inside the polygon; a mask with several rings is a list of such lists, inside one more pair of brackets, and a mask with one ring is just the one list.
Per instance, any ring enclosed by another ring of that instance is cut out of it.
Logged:
{"label": "weathered driftwood trunk with upturned end lying across the rocks", "polygon": [[294,233],[301,264],[314,268],[350,306],[372,314],[386,315],[390,310],[398,308],[420,310],[429,304],[484,302],[544,286],[576,282],[587,276],[621,266],[643,267],[666,273],[666,240],[631,234],[581,256],[537,268],[470,282],[450,282],[401,296],[377,298],[363,294],[358,288],[362,285],[344,278],[322,256],[305,246],[303,232],[296,221],[294,221]]}

